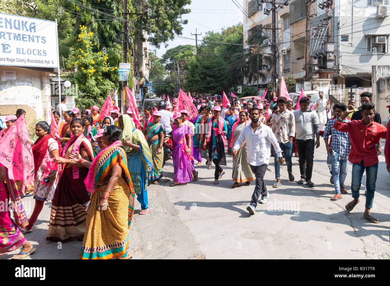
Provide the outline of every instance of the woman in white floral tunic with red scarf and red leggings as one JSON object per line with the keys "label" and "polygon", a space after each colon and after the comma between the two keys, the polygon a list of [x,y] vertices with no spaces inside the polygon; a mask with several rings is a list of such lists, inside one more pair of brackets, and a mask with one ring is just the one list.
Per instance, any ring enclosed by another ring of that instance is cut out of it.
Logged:
{"label": "woman in white floral tunic with red scarf and red leggings", "polygon": [[32,226],[43,209],[44,202],[53,198],[57,187],[57,169],[51,170],[47,163],[51,158],[59,156],[58,143],[51,137],[50,127],[46,121],[39,121],[35,125],[35,134],[38,136],[38,140],[31,147],[35,167],[35,206],[30,219],[28,219],[28,226],[20,229],[23,233],[31,232]]}

